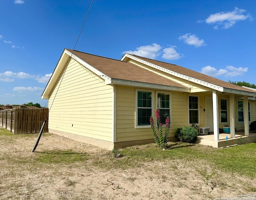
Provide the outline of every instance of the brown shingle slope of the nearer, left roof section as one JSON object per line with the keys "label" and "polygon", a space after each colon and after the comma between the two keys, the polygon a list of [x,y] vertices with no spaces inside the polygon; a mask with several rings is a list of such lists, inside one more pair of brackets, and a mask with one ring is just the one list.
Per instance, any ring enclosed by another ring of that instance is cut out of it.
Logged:
{"label": "brown shingle slope of the nearer, left roof section", "polygon": [[[72,52],[72,50],[68,51]],[[113,79],[186,88],[184,85],[166,79],[132,63],[127,63],[126,61],[110,59],[76,50],[73,54]]]}

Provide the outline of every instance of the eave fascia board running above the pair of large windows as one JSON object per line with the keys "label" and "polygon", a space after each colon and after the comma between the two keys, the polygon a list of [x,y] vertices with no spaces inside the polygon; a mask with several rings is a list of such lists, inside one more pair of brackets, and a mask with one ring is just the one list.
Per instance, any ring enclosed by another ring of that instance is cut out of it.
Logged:
{"label": "eave fascia board running above the pair of large windows", "polygon": [[190,92],[188,88],[184,87],[174,87],[169,85],[158,85],[153,83],[142,83],[137,81],[128,81],[128,80],[121,80],[121,79],[111,79],[111,84],[114,85],[128,85],[128,86],[134,86],[134,87],[145,87],[150,89],[164,89],[164,90],[170,90],[170,91],[182,91],[182,92]]}

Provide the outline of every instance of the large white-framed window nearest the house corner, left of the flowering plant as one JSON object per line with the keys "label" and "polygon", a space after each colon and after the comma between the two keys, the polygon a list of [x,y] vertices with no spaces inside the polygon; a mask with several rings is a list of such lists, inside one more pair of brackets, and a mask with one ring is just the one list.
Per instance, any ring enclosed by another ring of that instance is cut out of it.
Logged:
{"label": "large white-framed window nearest the house corner, left of the flowering plant", "polygon": [[152,92],[136,90],[137,112],[136,126],[150,126],[150,116],[152,115]]}

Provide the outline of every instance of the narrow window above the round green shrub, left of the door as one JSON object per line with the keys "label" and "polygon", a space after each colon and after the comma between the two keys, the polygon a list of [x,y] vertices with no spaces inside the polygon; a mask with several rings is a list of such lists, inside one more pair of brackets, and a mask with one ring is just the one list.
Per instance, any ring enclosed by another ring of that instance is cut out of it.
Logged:
{"label": "narrow window above the round green shrub, left of the door", "polygon": [[199,123],[199,110],[198,110],[198,97],[189,96],[188,97],[188,109],[189,109],[189,123]]}

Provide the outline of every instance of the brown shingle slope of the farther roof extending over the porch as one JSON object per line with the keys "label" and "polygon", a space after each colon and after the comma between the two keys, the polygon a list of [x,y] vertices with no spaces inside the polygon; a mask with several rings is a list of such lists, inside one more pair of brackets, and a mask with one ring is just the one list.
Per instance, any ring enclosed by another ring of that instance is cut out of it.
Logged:
{"label": "brown shingle slope of the farther roof extending over the porch", "polygon": [[214,77],[211,77],[211,76],[199,73],[197,71],[193,71],[191,69],[187,69],[185,67],[181,67],[179,65],[165,63],[165,62],[162,62],[162,61],[156,61],[156,60],[153,60],[153,59],[149,59],[149,58],[145,58],[145,57],[140,57],[138,55],[132,55],[132,56],[137,57],[139,59],[142,59],[144,61],[153,63],[153,64],[158,65],[160,67],[164,67],[166,69],[175,71],[177,73],[181,73],[183,75],[187,75],[187,76],[190,76],[190,77],[202,80],[202,81],[206,81],[208,83],[212,83],[214,85],[218,85],[220,87],[224,87],[224,88],[228,88],[228,89],[241,90],[241,91],[254,92],[255,93],[255,91],[253,91],[251,89],[244,88],[244,87],[241,87],[241,86],[238,86],[238,85],[234,85],[232,83],[228,83],[226,81],[222,81],[220,79],[216,79]]}

